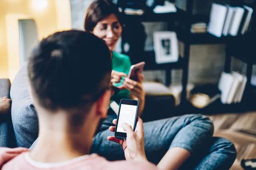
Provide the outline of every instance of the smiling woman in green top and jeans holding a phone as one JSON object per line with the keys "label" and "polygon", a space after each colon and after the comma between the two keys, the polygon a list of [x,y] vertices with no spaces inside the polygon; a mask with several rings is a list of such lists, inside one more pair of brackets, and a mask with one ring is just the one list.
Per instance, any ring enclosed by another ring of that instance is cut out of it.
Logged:
{"label": "smiling woman in green top and jeans holding a phone", "polygon": [[[120,89],[114,100],[118,103],[122,98],[139,100],[141,115],[145,104],[144,77],[138,73],[138,81],[126,78],[131,66],[130,59],[113,51],[122,35],[121,14],[116,5],[111,0],[93,1],[87,9],[84,29],[104,40],[112,51],[111,83],[125,88]],[[110,114],[103,122],[94,138],[91,152],[108,160],[125,159],[122,147],[116,144],[120,140],[114,138],[111,132],[114,130],[112,122],[116,122],[116,114]],[[229,140],[212,137],[213,125],[206,116],[184,115],[146,122],[143,126],[146,156],[160,169],[225,170],[231,167],[236,158],[236,149]]]}

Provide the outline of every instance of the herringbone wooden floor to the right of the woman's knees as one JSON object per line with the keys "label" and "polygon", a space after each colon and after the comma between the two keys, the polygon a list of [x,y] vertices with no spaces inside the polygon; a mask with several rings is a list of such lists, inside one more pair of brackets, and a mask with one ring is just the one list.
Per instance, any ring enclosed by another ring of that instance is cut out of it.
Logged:
{"label": "herringbone wooden floor to the right of the woman's knees", "polygon": [[209,117],[215,126],[214,136],[225,137],[235,144],[237,158],[230,170],[243,170],[242,159],[256,159],[256,112]]}

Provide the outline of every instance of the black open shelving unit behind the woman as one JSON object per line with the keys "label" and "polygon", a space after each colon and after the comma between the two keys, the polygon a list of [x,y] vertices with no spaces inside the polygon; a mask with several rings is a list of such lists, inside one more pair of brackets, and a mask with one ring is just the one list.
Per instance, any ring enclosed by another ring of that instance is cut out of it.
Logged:
{"label": "black open shelving unit behind the woman", "polygon": [[[245,0],[231,0],[230,6],[242,6],[244,5]],[[194,0],[186,0],[186,11],[177,8],[176,13],[169,13],[169,14],[154,14],[152,12],[145,12],[142,16],[135,16],[135,15],[125,15],[125,20],[127,23],[140,23],[140,22],[168,22],[171,26],[172,31],[176,31],[177,38],[179,41],[184,43],[184,49],[183,49],[183,57],[179,57],[179,61],[177,63],[167,63],[167,64],[156,64],[154,62],[154,51],[150,52],[144,52],[140,53],[140,55],[137,56],[130,56],[140,58],[142,55],[146,55],[147,57],[141,58],[141,61],[145,61],[145,70],[166,70],[166,85],[171,84],[171,70],[172,69],[182,69],[182,87],[183,91],[181,93],[181,103],[180,107],[181,110],[184,111],[184,108],[186,111],[189,111],[192,109],[192,111],[195,111],[195,113],[198,111],[198,113],[204,113],[204,111],[207,112],[229,112],[229,111],[241,111],[241,106],[244,106],[243,108],[247,107],[246,102],[244,100],[240,104],[231,104],[231,105],[223,105],[220,101],[216,101],[207,108],[204,109],[196,109],[193,108],[192,105],[189,104],[189,102],[186,100],[186,86],[188,83],[188,76],[189,76],[189,53],[190,53],[190,46],[191,45],[204,45],[204,44],[226,44],[226,57],[225,57],[225,64],[224,64],[224,71],[230,72],[231,68],[231,59],[232,57],[235,57],[237,59],[240,59],[241,61],[247,63],[247,85],[246,89],[250,89],[250,79],[252,75],[252,68],[253,64],[256,64],[256,57],[251,57],[253,54],[255,54],[256,49],[256,0],[253,0],[252,4],[246,4],[254,9],[253,15],[252,15],[252,31],[248,34],[238,35],[236,37],[227,36],[227,37],[215,37],[208,33],[197,33],[193,34],[190,31],[191,25],[196,22],[206,22],[209,21],[209,16],[205,15],[198,15],[193,14],[193,6],[194,6]],[[183,23],[182,26],[177,25],[176,23]],[[241,47],[241,42],[244,42]],[[245,43],[246,42],[246,43]],[[123,46],[122,46],[123,49]],[[245,52],[246,51],[246,52]],[[255,56],[255,55],[254,55]],[[245,94],[248,94],[245,90]],[[248,96],[248,95],[247,95]],[[250,96],[249,96],[250,97]],[[248,110],[250,110],[248,108]],[[179,112],[183,112],[180,111]],[[186,112],[184,112],[186,113]]]}

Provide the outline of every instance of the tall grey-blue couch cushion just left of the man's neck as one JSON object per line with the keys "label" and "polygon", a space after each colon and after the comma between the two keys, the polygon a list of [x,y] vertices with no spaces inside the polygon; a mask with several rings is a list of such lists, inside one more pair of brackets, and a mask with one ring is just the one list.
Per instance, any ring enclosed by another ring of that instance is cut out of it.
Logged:
{"label": "tall grey-blue couch cushion just left of the man's neck", "polygon": [[19,147],[30,147],[38,137],[38,117],[29,95],[29,79],[26,65],[12,82],[12,123]]}

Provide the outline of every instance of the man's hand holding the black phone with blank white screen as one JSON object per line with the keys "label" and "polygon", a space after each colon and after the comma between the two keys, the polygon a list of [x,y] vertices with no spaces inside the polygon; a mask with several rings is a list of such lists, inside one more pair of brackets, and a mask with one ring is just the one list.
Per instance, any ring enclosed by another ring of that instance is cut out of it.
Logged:
{"label": "man's hand holding the black phone with blank white screen", "polygon": [[[113,124],[116,125],[116,119],[113,120]],[[148,161],[145,155],[144,130],[142,119],[138,117],[135,131],[133,131],[132,127],[126,123],[122,124],[122,128],[127,133],[127,137],[125,140],[117,139],[115,136],[108,136],[108,140],[119,143],[123,147],[126,160]],[[109,127],[109,130],[114,132],[115,126]]]}

